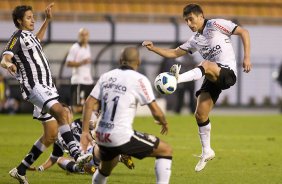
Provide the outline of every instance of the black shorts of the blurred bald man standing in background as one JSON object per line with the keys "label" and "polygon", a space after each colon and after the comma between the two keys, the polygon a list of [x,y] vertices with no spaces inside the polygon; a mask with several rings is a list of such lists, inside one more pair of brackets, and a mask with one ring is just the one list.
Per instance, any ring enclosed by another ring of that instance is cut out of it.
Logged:
{"label": "black shorts of the blurred bald man standing in background", "polygon": [[94,85],[73,84],[71,85],[71,105],[83,105]]}

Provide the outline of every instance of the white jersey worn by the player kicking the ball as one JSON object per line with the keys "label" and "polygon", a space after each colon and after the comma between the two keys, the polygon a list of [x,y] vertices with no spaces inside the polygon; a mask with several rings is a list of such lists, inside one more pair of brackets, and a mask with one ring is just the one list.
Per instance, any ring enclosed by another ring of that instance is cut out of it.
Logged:
{"label": "white jersey worn by the player kicking the ball", "polygon": [[205,20],[203,33],[197,33],[179,48],[193,53],[198,51],[209,61],[232,69],[237,75],[236,58],[230,36],[237,25],[224,19]]}

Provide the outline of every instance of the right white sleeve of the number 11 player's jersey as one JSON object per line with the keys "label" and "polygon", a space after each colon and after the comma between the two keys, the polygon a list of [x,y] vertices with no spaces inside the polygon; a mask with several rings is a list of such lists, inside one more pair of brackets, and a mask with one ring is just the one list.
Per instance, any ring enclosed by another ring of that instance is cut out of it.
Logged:
{"label": "right white sleeve of the number 11 player's jersey", "polygon": [[136,92],[140,105],[147,105],[155,100],[151,82],[146,77],[138,79]]}

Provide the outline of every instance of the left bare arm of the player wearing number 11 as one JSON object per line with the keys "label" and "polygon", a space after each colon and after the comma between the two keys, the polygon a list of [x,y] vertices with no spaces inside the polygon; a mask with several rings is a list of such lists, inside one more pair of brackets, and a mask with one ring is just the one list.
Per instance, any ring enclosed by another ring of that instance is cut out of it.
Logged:
{"label": "left bare arm of the player wearing number 11", "polygon": [[92,141],[91,135],[89,134],[89,124],[91,121],[91,116],[93,112],[97,112],[100,107],[100,102],[96,98],[89,95],[83,106],[82,113],[82,134],[80,137],[80,146],[82,151],[87,150],[87,146]]}

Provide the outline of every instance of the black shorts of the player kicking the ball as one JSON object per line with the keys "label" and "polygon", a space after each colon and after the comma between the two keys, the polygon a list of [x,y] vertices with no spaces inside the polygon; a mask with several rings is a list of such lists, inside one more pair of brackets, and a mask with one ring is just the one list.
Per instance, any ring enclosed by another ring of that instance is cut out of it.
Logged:
{"label": "black shorts of the player kicking the ball", "polygon": [[236,83],[236,75],[233,70],[221,64],[217,65],[221,68],[218,80],[211,82],[205,78],[201,88],[196,92],[196,97],[198,97],[201,92],[208,92],[214,104],[222,90],[228,89]]}

